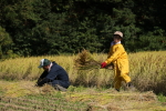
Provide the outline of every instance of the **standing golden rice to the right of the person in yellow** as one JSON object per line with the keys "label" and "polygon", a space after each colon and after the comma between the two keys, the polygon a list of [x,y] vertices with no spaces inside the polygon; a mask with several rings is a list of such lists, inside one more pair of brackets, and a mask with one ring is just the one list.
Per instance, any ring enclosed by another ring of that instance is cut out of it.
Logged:
{"label": "standing golden rice to the right of the person in yellow", "polygon": [[153,90],[166,93],[166,52],[137,52],[129,54],[129,74],[141,91]]}

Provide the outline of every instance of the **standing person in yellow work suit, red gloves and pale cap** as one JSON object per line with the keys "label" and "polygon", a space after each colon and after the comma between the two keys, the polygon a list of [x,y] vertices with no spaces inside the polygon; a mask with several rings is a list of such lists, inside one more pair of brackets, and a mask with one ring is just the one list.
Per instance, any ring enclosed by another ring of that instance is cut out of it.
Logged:
{"label": "standing person in yellow work suit, red gloves and pale cap", "polygon": [[126,83],[126,87],[131,85],[128,57],[124,47],[121,44],[122,39],[123,33],[115,31],[114,41],[111,43],[107,59],[101,64],[101,68],[105,68],[110,63],[114,64],[114,88],[117,91],[120,91],[122,81]]}

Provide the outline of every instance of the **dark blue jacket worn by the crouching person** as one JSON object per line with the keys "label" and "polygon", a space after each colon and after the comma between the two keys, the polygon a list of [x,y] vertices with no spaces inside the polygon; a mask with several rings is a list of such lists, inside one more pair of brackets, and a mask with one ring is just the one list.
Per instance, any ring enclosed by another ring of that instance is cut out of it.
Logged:
{"label": "dark blue jacket worn by the crouching person", "polygon": [[60,84],[69,88],[70,80],[66,71],[55,62],[52,62],[51,70],[49,72],[44,71],[37,82],[39,87],[42,87],[44,83],[51,83],[52,85]]}

